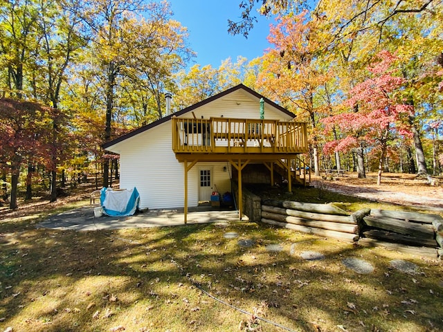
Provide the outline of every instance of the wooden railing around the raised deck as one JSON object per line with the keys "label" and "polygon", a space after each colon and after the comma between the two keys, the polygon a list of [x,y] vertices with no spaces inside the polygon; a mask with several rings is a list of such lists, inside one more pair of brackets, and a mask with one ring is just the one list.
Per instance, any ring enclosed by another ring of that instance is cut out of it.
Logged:
{"label": "wooden railing around the raised deck", "polygon": [[304,122],[236,118],[172,118],[176,154],[301,154]]}

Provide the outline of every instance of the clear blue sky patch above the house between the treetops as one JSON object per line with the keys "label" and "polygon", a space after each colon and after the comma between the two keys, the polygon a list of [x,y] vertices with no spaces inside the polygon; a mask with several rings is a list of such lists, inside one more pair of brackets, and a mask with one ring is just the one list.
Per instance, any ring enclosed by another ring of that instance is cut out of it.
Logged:
{"label": "clear blue sky patch above the house between the treetops", "polygon": [[[197,53],[196,64],[211,64],[218,68],[230,57],[237,62],[242,55],[248,60],[263,55],[270,45],[266,40],[273,19],[258,18],[248,39],[243,35],[228,34],[228,19],[237,21],[241,15],[240,0],[169,0],[174,12],[172,19],[188,28],[190,48]],[[190,64],[191,66],[194,63]]]}

